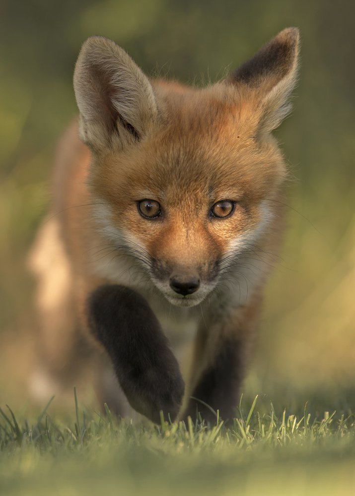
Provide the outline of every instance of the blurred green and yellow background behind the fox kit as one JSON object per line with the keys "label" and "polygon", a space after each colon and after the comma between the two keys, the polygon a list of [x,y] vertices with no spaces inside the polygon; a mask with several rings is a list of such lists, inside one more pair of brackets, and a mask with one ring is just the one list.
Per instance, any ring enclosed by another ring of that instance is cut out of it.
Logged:
{"label": "blurred green and yellow background behind the fox kit", "polygon": [[354,18],[351,0],[0,1],[0,404],[27,398],[26,253],[56,141],[76,114],[81,43],[106,36],[149,74],[200,84],[287,26],[302,37],[294,111],[275,132],[290,170],[287,232],[245,387],[279,391],[284,406],[355,390]]}

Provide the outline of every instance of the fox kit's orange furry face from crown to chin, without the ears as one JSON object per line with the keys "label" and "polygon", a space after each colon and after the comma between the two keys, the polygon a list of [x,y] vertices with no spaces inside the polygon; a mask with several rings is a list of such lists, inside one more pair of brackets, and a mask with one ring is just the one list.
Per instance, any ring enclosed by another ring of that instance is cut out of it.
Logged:
{"label": "fox kit's orange furry face from crown to chin, without the ears", "polygon": [[[129,64],[132,74],[121,84],[134,93],[140,69]],[[173,305],[195,306],[228,271],[245,278],[238,263],[255,253],[275,215],[283,160],[270,136],[268,107],[250,88],[236,90],[232,79],[200,90],[150,83],[145,76],[144,83],[142,101],[122,97],[122,108],[132,105],[124,123],[116,118],[111,129],[107,123],[100,129],[105,150],[89,137],[93,131],[84,118],[81,123],[93,154],[89,184],[100,205],[96,218],[115,249],[106,275],[119,280],[118,254],[124,254],[147,275],[141,276],[145,287],[153,285]],[[245,291],[241,298],[236,286],[232,292],[243,301]]]}

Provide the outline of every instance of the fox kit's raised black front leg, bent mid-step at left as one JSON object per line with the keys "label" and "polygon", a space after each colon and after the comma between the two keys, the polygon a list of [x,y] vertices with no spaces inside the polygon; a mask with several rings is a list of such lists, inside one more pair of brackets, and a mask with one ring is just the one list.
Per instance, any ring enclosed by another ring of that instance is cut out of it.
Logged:
{"label": "fox kit's raised black front leg, bent mid-step at left", "polygon": [[153,422],[175,419],[185,384],[160,324],[145,299],[125,286],[105,285],[87,302],[88,323],[104,345],[131,406]]}

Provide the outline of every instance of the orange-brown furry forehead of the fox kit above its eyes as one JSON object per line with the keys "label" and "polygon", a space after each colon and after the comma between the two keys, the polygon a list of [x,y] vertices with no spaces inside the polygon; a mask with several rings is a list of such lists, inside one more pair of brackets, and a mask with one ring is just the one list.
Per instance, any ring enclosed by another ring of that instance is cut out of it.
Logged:
{"label": "orange-brown furry forehead of the fox kit above its eyes", "polygon": [[242,105],[203,90],[167,93],[161,122],[142,142],[95,164],[98,191],[104,186],[109,201],[120,194],[176,201],[187,195],[208,201],[250,196],[255,202],[282,183],[278,147],[273,138],[258,140],[253,115]]}

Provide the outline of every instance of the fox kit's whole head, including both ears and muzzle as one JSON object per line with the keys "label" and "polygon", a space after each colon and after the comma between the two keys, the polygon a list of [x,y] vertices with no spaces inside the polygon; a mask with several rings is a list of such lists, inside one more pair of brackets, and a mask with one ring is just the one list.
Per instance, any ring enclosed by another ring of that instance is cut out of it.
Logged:
{"label": "fox kit's whole head, including both ears and muzzle", "polygon": [[[196,89],[149,79],[105,38],[82,46],[74,89],[101,235],[174,305],[237,279],[274,229],[285,168],[271,131],[290,110],[297,49],[298,30],[284,29]],[[119,280],[122,268],[109,270]]]}

